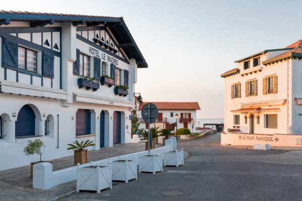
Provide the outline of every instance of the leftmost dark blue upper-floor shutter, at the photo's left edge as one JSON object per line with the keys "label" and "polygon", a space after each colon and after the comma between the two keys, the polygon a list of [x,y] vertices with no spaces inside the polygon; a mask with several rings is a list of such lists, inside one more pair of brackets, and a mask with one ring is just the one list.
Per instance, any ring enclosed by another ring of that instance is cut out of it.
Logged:
{"label": "leftmost dark blue upper-floor shutter, at the photo's left edge", "polygon": [[16,70],[18,68],[18,43],[2,38],[2,66]]}

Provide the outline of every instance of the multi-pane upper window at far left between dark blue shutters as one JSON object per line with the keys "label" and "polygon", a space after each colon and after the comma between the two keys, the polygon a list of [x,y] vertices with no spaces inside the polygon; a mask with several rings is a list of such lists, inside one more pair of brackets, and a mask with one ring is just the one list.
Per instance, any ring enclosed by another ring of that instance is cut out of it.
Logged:
{"label": "multi-pane upper window at far left between dark blue shutters", "polygon": [[37,52],[24,47],[18,47],[18,67],[37,72]]}

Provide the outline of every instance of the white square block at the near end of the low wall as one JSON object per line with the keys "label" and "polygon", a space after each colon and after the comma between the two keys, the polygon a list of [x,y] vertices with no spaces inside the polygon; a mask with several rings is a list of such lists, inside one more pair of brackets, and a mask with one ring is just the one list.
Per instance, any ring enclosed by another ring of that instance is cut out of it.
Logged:
{"label": "white square block at the near end of the low wall", "polygon": [[52,164],[42,162],[33,166],[33,188],[48,189],[52,187]]}

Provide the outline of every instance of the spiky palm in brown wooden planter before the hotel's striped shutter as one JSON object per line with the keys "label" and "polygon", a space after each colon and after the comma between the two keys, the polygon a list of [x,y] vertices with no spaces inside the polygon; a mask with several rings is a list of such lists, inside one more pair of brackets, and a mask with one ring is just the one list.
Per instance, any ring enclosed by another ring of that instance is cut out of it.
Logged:
{"label": "spiky palm in brown wooden planter before the hotel's striped shutter", "polygon": [[67,150],[73,149],[73,165],[85,164],[88,162],[88,149],[85,149],[90,146],[95,146],[91,140],[82,141],[81,143],[78,140],[72,142],[73,144],[67,144],[69,147]]}

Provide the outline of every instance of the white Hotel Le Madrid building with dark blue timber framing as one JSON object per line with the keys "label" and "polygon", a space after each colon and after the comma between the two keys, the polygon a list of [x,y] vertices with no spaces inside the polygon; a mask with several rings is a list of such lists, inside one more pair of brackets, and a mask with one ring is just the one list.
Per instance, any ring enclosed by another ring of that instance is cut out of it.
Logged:
{"label": "white Hotel Le Madrid building with dark blue timber framing", "polygon": [[73,155],[75,140],[131,141],[147,63],[123,18],[0,11],[0,24],[0,170],[38,160],[28,140],[44,142],[43,160]]}

